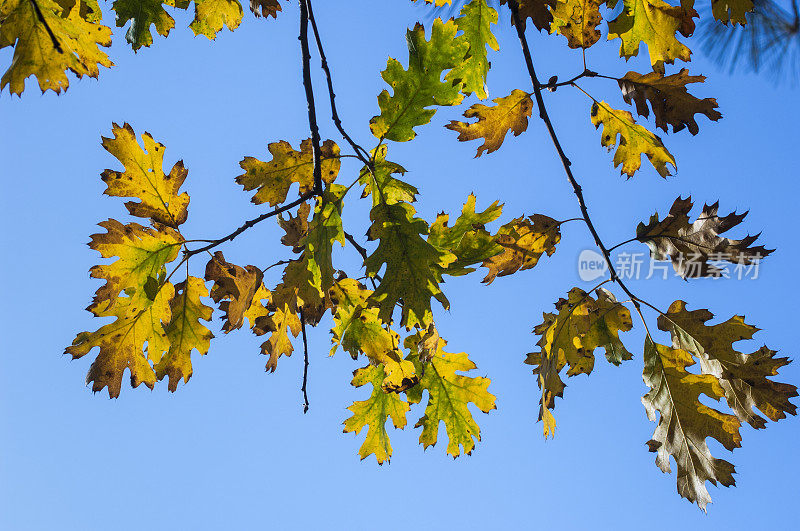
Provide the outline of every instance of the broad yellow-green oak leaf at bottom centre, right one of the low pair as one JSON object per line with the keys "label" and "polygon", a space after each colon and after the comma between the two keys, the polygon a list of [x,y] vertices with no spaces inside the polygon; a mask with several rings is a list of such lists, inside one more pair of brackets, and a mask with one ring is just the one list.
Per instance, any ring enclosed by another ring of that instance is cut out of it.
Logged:
{"label": "broad yellow-green oak leaf at bottom centre, right one of the low pair", "polygon": [[420,403],[423,391],[428,391],[425,414],[415,426],[422,427],[419,442],[424,448],[435,445],[439,439],[439,424],[444,422],[447,453],[454,458],[462,451],[470,455],[475,442],[481,440],[481,429],[469,410],[469,404],[474,404],[484,413],[496,408],[495,397],[488,391],[491,380],[456,374],[456,371],[471,371],[476,366],[463,352],[445,352],[443,349],[447,342],[441,338],[435,342],[436,352],[429,353],[430,361],[420,362],[418,344],[426,334],[421,330],[404,342],[412,352],[409,358],[414,360],[417,373],[422,375],[419,384],[406,391],[409,403]]}

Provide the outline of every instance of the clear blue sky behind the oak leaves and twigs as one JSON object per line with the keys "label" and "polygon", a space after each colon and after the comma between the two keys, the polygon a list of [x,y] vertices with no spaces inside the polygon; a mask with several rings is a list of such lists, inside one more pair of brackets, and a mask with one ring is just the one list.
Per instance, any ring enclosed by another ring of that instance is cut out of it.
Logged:
{"label": "clear blue sky behind the oak leaves and twigs", "polygon": [[[425,12],[402,0],[316,4],[341,114],[368,144],[368,121],[384,87],[379,71],[387,56],[405,62],[404,32]],[[759,432],[744,427],[743,447],[732,455],[711,444],[717,457],[736,465],[739,485],[709,486],[715,503],[707,516],[677,495],[674,474],[656,468],[645,446],[655,425],[640,403],[646,391],[640,323],[623,337],[634,360],[620,368],[598,360],[590,377],[567,382],[556,410],[556,438],[544,441],[535,422],[536,381],[522,360],[534,349],[530,331],[542,312],[571,287],[588,286],[575,266],[578,253],[590,247],[578,223],[565,226],[558,252],[532,271],[489,287],[477,274],[447,281],[452,310],[439,311],[440,331],[453,351],[468,352],[478,372],[492,378],[497,396],[497,411],[476,413],[483,442],[471,457],[453,461],[442,442],[423,452],[419,430],[409,426],[392,433],[390,465],[379,467],[373,457],[360,462],[363,433],[344,435],[341,423],[346,406],[367,391],[349,386],[359,363],[342,353],[327,357],[329,320],[310,333],[311,410],[305,416],[302,356],[265,374],[260,340],[245,331],[223,337],[219,321],[211,352],[195,360],[194,377],[175,394],[166,385],[153,392],[142,386],[123,388],[120,399],[109,400],[84,386],[92,356],[70,361],[61,352],[76,332],[97,326],[83,310],[99,285],[87,275],[97,256],[85,243],[97,222],[124,218],[121,201],[101,196],[99,174],[117,162],[101,148],[100,136],[109,135],[112,122],[128,121],[167,146],[167,164],[185,161],[185,189],[192,197],[187,237],[218,237],[257,216],[262,209],[233,182],[238,162],[245,155],[263,158],[268,142],[296,145],[307,136],[296,3],[286,7],[277,21],[246,13],[236,32],[226,30],[215,43],[194,38],[189,15],[178,13],[174,34],[136,55],[120,31],[110,52],[117,66],[104,70],[99,82],[73,80],[61,97],[40,96],[35,87],[21,99],[0,96],[0,528],[796,527],[795,418]],[[491,96],[528,90],[514,35],[507,28],[498,35],[506,53],[493,58]],[[532,46],[544,79],[581,69],[580,55],[568,51],[562,38],[535,35]],[[589,53],[590,66],[609,74],[645,71],[646,59],[626,65],[616,49],[616,43],[601,42]],[[709,76],[695,92],[716,97],[724,118],[701,118],[696,137],[685,130],[664,135],[679,168],[667,180],[647,168],[625,181],[611,168],[583,95],[548,93],[551,114],[609,243],[629,238],[639,221],[655,210],[666,212],[681,194],[698,203],[719,199],[723,211],[750,209],[747,229],[763,231],[767,246],[778,249],[758,280],[671,278],[632,287],[661,307],[682,298],[722,319],[744,313],[763,331],[743,348],[767,343],[794,357],[797,92],[752,75],[731,76],[699,51],[695,56],[690,71]],[[8,49],[0,52],[0,64],[5,67],[10,57]],[[623,105],[613,82],[583,86]],[[325,120],[324,94],[318,92],[318,99],[323,136],[339,141]],[[440,110],[417,141],[390,146],[392,160],[406,166],[422,191],[418,209],[427,219],[442,209],[457,212],[473,191],[479,206],[505,202],[504,219],[578,214],[538,121],[500,152],[473,160],[477,146],[457,143],[442,127],[458,114]],[[342,171],[352,176],[358,168],[348,163]],[[366,205],[351,201],[346,208],[348,230],[363,234]],[[286,257],[279,234],[266,223],[223,250],[235,263],[264,266]],[[352,249],[336,259],[358,268]],[[203,265],[192,264],[196,274]],[[267,280],[274,283],[276,275]],[[648,317],[655,322],[655,315]],[[781,380],[800,382],[800,368],[784,369]],[[411,425],[416,418],[409,416]]]}

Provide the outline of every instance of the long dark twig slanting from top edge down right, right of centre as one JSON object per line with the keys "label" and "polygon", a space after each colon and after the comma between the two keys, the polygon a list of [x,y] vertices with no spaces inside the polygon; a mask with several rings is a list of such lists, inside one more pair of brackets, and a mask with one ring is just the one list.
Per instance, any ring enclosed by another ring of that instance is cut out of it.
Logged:
{"label": "long dark twig slanting from top edge down right, right of centre", "polygon": [[539,117],[542,119],[545,126],[547,127],[547,132],[550,134],[550,139],[553,142],[553,146],[556,148],[558,156],[561,159],[561,164],[564,166],[564,172],[567,175],[567,180],[572,186],[572,190],[573,192],[575,192],[575,196],[578,198],[578,204],[581,209],[581,216],[583,217],[586,226],[589,228],[589,232],[591,232],[595,244],[597,245],[597,247],[600,248],[600,251],[603,253],[603,257],[605,258],[606,264],[608,265],[609,274],[611,275],[611,280],[616,284],[618,284],[619,287],[622,289],[622,291],[624,291],[625,294],[628,295],[628,297],[630,297],[630,299],[633,301],[634,307],[636,308],[636,312],[639,314],[639,317],[642,319],[642,322],[644,323],[644,315],[642,314],[638,298],[635,295],[633,295],[633,293],[631,293],[631,291],[619,277],[619,274],[617,274],[617,270],[614,268],[614,264],[611,261],[611,254],[609,253],[603,241],[600,239],[600,236],[597,233],[597,229],[595,229],[594,224],[592,223],[592,219],[589,217],[589,211],[586,208],[586,201],[583,198],[583,189],[581,188],[581,185],[578,184],[578,181],[575,180],[575,176],[572,174],[572,168],[571,168],[572,163],[570,162],[569,158],[567,158],[567,155],[564,153],[564,150],[561,147],[561,143],[558,141],[558,136],[556,135],[555,129],[553,128],[553,122],[550,120],[550,116],[547,114],[547,107],[545,106],[544,99],[542,98],[542,85],[539,83],[539,78],[536,77],[536,70],[533,67],[533,58],[531,57],[530,47],[528,46],[528,39],[525,37],[525,30],[522,28],[522,24],[520,23],[519,5],[517,4],[517,0],[509,0],[508,6],[511,8],[511,16],[514,20],[514,26],[517,29],[517,36],[519,37],[519,41],[522,46],[522,54],[525,56],[525,64],[527,66],[531,82],[533,83],[533,91],[536,97],[536,104],[539,107]]}

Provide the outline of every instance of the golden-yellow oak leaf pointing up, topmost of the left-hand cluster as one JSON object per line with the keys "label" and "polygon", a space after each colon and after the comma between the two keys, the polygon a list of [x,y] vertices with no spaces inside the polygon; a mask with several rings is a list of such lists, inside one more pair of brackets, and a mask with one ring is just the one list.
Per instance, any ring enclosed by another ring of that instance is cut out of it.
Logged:
{"label": "golden-yellow oak leaf pointing up, topmost of the left-hand cluster", "polygon": [[164,173],[163,144],[156,142],[150,133],[144,133],[144,149],[136,141],[136,133],[129,124],[114,124],[114,138],[103,138],[103,147],[125,167],[125,171],[105,170],[106,195],[135,197],[140,202],[128,201],[125,207],[132,216],[177,228],[188,216],[189,194],[178,194],[189,174],[178,161],[169,174]]}

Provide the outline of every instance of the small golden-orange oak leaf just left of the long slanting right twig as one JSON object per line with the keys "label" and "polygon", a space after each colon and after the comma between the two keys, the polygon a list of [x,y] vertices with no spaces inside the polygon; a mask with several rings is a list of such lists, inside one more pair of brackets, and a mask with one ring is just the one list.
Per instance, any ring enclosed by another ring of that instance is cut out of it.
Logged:
{"label": "small golden-orange oak leaf just left of the long slanting right twig", "polygon": [[461,142],[482,138],[483,144],[478,147],[476,157],[500,149],[509,131],[519,136],[528,129],[528,118],[533,109],[530,94],[514,89],[510,95],[493,101],[494,106],[478,103],[464,112],[464,117],[478,118],[477,122],[452,120],[445,126],[459,133],[458,140]]}

